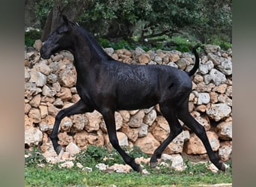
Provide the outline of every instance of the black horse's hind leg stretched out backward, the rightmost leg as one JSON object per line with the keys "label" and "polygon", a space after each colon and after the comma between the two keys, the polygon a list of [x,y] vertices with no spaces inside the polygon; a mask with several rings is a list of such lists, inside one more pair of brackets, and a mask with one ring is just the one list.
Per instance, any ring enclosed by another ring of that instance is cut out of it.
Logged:
{"label": "black horse's hind leg stretched out backward, the rightmost leg", "polygon": [[212,147],[210,146],[209,139],[207,138],[207,134],[205,132],[204,126],[201,126],[200,123],[198,123],[197,120],[192,117],[191,114],[189,114],[188,105],[186,102],[183,102],[180,108],[177,110],[177,115],[180,120],[183,121],[183,123],[186,124],[190,129],[192,129],[193,132],[195,132],[195,135],[198,136],[198,138],[201,139],[201,141],[204,144],[205,149],[207,150],[207,154],[209,156],[209,159],[211,162],[213,162],[216,167],[221,170],[225,171],[225,165],[222,162],[219,162],[219,158],[216,156],[216,154],[213,152]]}

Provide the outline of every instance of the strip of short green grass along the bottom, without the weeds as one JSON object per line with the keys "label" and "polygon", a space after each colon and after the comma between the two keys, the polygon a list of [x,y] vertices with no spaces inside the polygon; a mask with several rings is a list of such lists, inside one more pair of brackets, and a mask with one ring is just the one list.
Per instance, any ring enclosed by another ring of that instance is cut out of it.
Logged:
{"label": "strip of short green grass along the bottom, without the weeds", "polygon": [[[189,171],[172,173],[147,170],[148,175],[141,175],[135,171],[129,174],[111,173],[106,174],[94,169],[91,173],[79,168],[58,168],[49,165],[44,168],[25,167],[25,186],[190,186],[198,184],[232,183],[231,171],[227,174],[210,171]],[[171,169],[169,169],[171,170]]]}

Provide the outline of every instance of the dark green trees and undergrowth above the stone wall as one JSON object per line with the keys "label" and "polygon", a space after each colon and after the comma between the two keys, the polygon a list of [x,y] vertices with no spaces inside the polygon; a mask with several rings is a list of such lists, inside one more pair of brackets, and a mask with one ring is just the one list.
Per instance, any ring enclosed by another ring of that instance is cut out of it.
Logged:
{"label": "dark green trees and undergrowth above the stone wall", "polygon": [[60,15],[64,13],[94,36],[112,41],[131,41],[136,36],[139,43],[145,39],[155,43],[166,36],[186,34],[202,43],[213,36],[231,42],[231,0],[27,1],[35,4],[43,28],[42,40],[61,24]]}

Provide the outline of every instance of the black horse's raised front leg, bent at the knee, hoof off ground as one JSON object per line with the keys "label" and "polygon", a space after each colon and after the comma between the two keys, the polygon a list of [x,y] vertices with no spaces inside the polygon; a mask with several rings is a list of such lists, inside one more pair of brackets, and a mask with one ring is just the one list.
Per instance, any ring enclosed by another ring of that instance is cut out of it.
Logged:
{"label": "black horse's raised front leg, bent at the knee, hoof off ground", "polygon": [[88,108],[86,107],[85,102],[83,102],[80,99],[74,105],[71,105],[68,108],[64,108],[63,110],[58,112],[58,114],[55,117],[55,123],[52,129],[52,133],[50,135],[50,138],[52,140],[52,145],[57,154],[59,154],[62,150],[61,145],[58,144],[58,128],[60,126],[61,120],[66,116],[70,116],[73,114],[82,114],[87,111],[90,111],[90,110],[88,110]]}

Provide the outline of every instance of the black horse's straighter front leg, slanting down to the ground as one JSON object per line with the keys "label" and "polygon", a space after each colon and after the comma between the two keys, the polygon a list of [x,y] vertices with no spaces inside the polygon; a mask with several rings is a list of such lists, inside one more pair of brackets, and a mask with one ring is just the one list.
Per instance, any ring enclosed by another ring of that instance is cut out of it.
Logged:
{"label": "black horse's straighter front leg, slanting down to the ground", "polygon": [[106,123],[106,128],[108,130],[109,134],[109,141],[112,144],[112,146],[115,148],[115,150],[118,151],[118,153],[122,156],[124,159],[124,162],[127,163],[127,165],[131,166],[134,171],[142,172],[142,168],[140,165],[135,163],[135,160],[127,155],[125,151],[120,147],[117,137],[117,132],[115,130],[115,111],[107,110],[103,113],[103,119]]}

